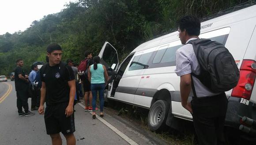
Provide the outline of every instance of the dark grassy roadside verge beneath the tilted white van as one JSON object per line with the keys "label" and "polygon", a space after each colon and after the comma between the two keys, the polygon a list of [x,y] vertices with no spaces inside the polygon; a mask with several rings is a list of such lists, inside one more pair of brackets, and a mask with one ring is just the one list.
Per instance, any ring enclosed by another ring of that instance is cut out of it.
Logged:
{"label": "dark grassy roadside verge beneath the tilted white van", "polygon": [[[108,109],[113,109],[113,114],[121,116],[124,119],[129,120],[136,126],[142,127],[144,130],[147,130],[148,133],[153,134],[157,138],[160,138],[166,141],[167,144],[171,145],[196,145],[197,141],[195,139],[195,134],[193,130],[185,130],[185,132],[180,132],[172,128],[168,128],[166,131],[155,132],[149,130],[147,126],[147,115],[149,110],[140,108],[133,105],[127,105],[121,102],[111,101],[108,105]],[[192,123],[190,122],[190,124]],[[191,127],[193,128],[193,127]]]}

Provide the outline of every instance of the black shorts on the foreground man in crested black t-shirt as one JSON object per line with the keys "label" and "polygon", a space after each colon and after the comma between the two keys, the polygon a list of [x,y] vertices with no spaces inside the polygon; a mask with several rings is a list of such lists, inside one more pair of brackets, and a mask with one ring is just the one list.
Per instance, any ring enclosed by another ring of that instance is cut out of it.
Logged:
{"label": "black shorts on the foreground man in crested black t-shirt", "polygon": [[72,134],[75,132],[74,113],[66,117],[68,102],[48,105],[45,108],[45,127],[47,134]]}

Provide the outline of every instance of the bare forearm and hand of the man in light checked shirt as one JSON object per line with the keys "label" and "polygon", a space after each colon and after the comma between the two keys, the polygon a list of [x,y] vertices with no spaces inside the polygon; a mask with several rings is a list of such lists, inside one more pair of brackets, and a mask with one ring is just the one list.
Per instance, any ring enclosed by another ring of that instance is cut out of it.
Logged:
{"label": "bare forearm and hand of the man in light checked shirt", "polygon": [[191,76],[190,73],[181,76],[181,105],[192,113],[191,103],[188,102],[188,96],[191,90]]}

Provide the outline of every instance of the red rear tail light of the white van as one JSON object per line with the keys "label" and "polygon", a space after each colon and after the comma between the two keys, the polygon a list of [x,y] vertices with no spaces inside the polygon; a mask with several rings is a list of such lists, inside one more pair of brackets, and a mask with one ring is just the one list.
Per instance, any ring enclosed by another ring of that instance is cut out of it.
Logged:
{"label": "red rear tail light of the white van", "polygon": [[256,78],[256,61],[243,60],[240,67],[240,78],[237,86],[233,88],[231,96],[250,100]]}

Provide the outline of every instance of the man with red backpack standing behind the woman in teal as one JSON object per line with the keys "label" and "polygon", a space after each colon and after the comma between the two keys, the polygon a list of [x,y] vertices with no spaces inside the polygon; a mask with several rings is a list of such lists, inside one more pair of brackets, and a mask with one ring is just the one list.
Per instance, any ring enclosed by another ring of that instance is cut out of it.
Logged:
{"label": "man with red backpack standing behind the woman in teal", "polygon": [[[84,111],[92,111],[92,93],[90,88],[90,82],[88,80],[88,68],[90,65],[93,65],[92,52],[85,51],[84,56],[86,58],[84,58],[84,60],[80,62],[78,66],[78,74],[83,84],[84,102],[85,102]],[[89,105],[88,105],[88,98],[89,98]],[[96,108],[95,110],[98,110],[98,108]]]}

